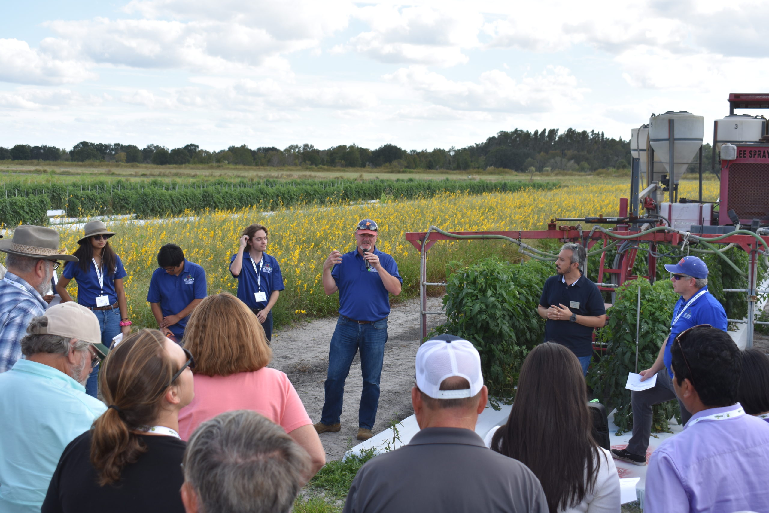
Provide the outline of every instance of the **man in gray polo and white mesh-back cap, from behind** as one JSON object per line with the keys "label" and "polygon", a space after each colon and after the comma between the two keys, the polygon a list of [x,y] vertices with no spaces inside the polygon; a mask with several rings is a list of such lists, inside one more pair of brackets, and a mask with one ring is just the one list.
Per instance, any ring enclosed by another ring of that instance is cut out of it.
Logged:
{"label": "man in gray polo and white mesh-back cap, from behind", "polygon": [[475,434],[488,390],[473,345],[453,335],[424,342],[416,375],[411,402],[421,431],[408,445],[363,465],[344,512],[548,513],[536,476]]}

